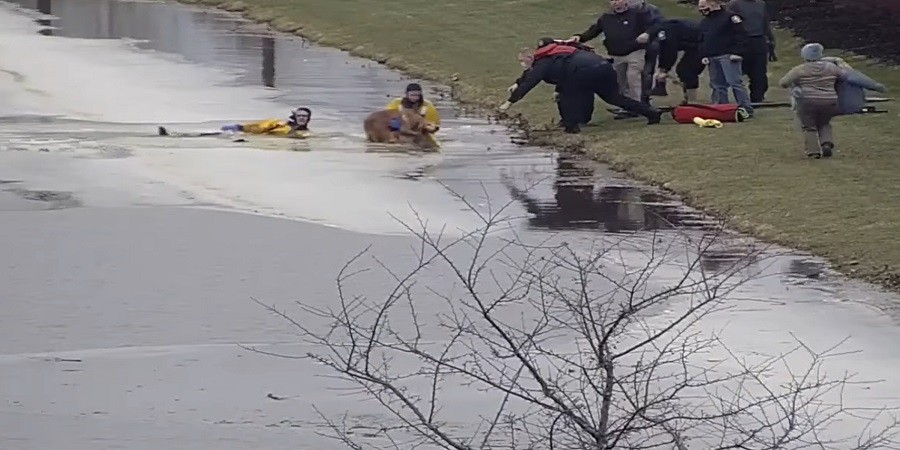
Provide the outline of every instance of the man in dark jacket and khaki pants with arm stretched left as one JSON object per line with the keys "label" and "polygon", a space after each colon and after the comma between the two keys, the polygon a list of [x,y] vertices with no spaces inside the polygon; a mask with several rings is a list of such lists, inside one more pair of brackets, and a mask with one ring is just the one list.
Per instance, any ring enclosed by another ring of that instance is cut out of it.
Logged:
{"label": "man in dark jacket and khaki pants with arm stretched left", "polygon": [[569,41],[587,42],[604,34],[603,46],[613,58],[622,94],[640,101],[647,45],[636,39],[652,25],[653,17],[647,8],[631,8],[629,1],[610,0],[610,11],[601,14],[590,28],[572,36]]}

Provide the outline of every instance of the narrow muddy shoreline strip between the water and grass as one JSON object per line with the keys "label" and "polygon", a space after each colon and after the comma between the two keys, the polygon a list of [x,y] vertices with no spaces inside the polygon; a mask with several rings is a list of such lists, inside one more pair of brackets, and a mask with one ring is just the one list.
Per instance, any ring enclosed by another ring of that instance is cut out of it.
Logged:
{"label": "narrow muddy shoreline strip between the water and grass", "polygon": [[[352,45],[340,40],[330,39],[326,36],[327,30],[315,29],[311,24],[298,23],[291,20],[282,19],[274,11],[270,11],[265,7],[257,7],[245,3],[240,0],[176,0],[179,3],[203,7],[211,7],[223,10],[229,13],[241,15],[243,18],[266,25],[270,29],[298,36],[307,41],[318,45],[338,48],[348,52],[351,56],[365,58],[386,67],[402,72],[408,76],[421,78],[436,83],[443,84],[450,88],[449,96],[459,103],[462,113],[465,115],[474,115],[485,117],[489,121],[505,123],[507,127],[522,136],[521,143],[531,146],[552,148],[561,152],[567,152],[578,155],[588,155],[591,159],[606,165],[611,170],[622,173],[636,181],[657,188],[672,198],[678,199],[690,208],[701,211],[725,222],[727,228],[736,232],[746,234],[748,236],[761,239],[772,244],[800,250],[810,251],[809,248],[798,245],[796,242],[783,239],[773,239],[764,237],[761,229],[752,222],[729,220],[730,215],[711,208],[702,202],[697,201],[691,192],[680,192],[671,189],[666,183],[660,180],[650,179],[648,177],[639,176],[635,171],[623,164],[618,164],[607,155],[597,154],[588,150],[586,140],[581,136],[565,135],[556,130],[548,130],[547,126],[540,126],[530,123],[522,114],[497,114],[497,103],[486,101],[484,94],[478,86],[472,86],[464,80],[460,80],[455,74],[447,75],[427,68],[421,68],[414,63],[404,61],[401,57],[387,55],[373,51],[364,45]],[[778,0],[773,0],[773,3]],[[895,1],[895,0],[886,0]],[[798,4],[808,3],[803,0],[781,0],[780,3],[793,2]],[[819,3],[819,2],[816,2]],[[804,21],[803,23],[807,23]],[[823,43],[823,45],[828,45]],[[883,266],[878,271],[863,271],[862,266],[857,259],[840,259],[834,256],[823,256],[829,261],[831,266],[838,272],[861,281],[878,285],[892,292],[900,292],[900,269]]]}

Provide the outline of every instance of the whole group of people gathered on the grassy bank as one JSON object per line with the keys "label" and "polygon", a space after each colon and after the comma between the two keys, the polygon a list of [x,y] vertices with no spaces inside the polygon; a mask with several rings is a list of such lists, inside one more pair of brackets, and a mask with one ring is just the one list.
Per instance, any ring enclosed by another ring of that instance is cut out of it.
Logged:
{"label": "whole group of people gathered on the grassy bank", "polygon": [[[609,9],[585,31],[565,41],[541,38],[536,50],[520,55],[525,70],[510,86],[501,110],[544,81],[556,86],[566,132],[577,133],[590,120],[594,95],[622,108],[622,116],[641,115],[655,124],[660,112],[650,99],[666,93],[674,67],[685,103],[698,101],[700,74],[708,68],[710,103],[736,103],[744,118],[752,117],[754,104],[764,102],[769,90],[768,63],[777,61],[768,5],[764,0],[699,0],[697,10],[699,20],[667,19],[646,0],[609,0]],[[585,45],[600,34],[608,57]],[[780,84],[791,89],[807,155],[829,157],[834,150],[831,118],[858,112],[864,89],[884,91],[884,86],[843,60],[824,57],[819,44],[805,46],[802,57],[805,62]]]}

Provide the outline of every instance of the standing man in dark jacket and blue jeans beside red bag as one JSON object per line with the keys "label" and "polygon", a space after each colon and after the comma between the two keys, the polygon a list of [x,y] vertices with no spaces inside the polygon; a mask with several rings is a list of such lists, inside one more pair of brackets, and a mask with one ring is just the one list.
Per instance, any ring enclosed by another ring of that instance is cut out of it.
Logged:
{"label": "standing man in dark jacket and blue jeans beside red bag", "polygon": [[720,0],[700,0],[697,9],[704,16],[700,21],[703,31],[700,55],[703,57],[701,62],[709,67],[712,102],[728,103],[728,91],[731,90],[735,103],[752,116],[753,106],[744,88],[741,70],[741,54],[746,41],[744,20],[726,11]]}

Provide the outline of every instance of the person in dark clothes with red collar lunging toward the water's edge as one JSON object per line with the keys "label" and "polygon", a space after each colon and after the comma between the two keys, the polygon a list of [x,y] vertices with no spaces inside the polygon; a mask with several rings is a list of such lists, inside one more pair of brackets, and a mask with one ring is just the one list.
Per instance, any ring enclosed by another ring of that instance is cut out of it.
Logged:
{"label": "person in dark clothes with red collar lunging toward the water's edge", "polygon": [[578,123],[584,120],[585,98],[593,94],[610,105],[646,117],[650,125],[660,122],[662,113],[658,109],[622,95],[612,64],[596,53],[552,38],[541,38],[527,66],[519,77],[521,83],[516,84],[509,99],[500,105],[501,111],[509,109],[544,81],[557,87],[563,127],[567,133],[581,131]]}

